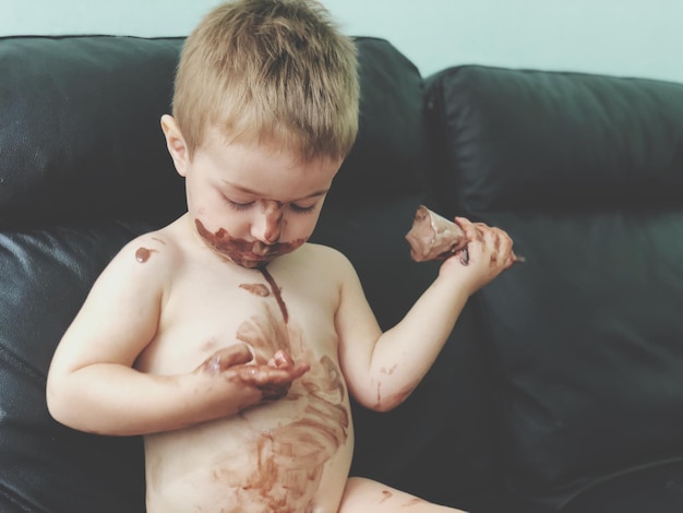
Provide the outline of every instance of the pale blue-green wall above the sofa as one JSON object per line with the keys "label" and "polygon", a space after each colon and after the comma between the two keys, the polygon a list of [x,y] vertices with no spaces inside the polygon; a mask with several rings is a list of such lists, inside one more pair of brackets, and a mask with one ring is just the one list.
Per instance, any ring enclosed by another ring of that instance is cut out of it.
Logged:
{"label": "pale blue-green wall above the sofa", "polygon": [[[0,35],[187,35],[219,0],[0,0]],[[458,63],[683,82],[683,0],[322,0],[422,74]]]}

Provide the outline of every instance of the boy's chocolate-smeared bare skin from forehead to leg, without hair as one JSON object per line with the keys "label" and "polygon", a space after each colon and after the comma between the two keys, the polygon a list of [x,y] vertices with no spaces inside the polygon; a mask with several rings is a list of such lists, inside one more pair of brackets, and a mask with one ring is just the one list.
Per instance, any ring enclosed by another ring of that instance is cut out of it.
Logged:
{"label": "boy's chocolate-smeared bare skin from forehead to leg, without hair", "polygon": [[149,513],[455,511],[349,479],[349,396],[400,404],[469,296],[512,265],[510,237],[457,219],[467,262],[444,261],[382,333],[348,260],[307,242],[340,163],[217,131],[189,159],[172,118],[164,130],[188,213],[94,285],[52,360],[53,417],[143,434]]}

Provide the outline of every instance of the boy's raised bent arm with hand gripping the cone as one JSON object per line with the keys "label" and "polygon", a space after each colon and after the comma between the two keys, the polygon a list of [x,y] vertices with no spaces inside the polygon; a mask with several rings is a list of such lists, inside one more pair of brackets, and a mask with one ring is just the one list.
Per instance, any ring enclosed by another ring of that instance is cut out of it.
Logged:
{"label": "boy's raised bent arm with hand gripping the cone", "polygon": [[458,218],[470,242],[467,263],[456,253],[405,318],[381,333],[355,273],[337,312],[339,358],[359,403],[376,410],[400,404],[439,356],[469,297],[513,263],[512,240],[498,228]]}

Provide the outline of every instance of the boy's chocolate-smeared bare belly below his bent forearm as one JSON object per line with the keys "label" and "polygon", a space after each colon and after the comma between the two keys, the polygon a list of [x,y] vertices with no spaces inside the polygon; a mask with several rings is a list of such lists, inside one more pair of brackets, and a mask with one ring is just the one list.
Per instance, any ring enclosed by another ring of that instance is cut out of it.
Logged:
{"label": "boy's chocolate-smeared bare belly below his bent forearm", "polygon": [[147,511],[336,512],[354,450],[346,397],[302,380],[240,415],[147,437]]}

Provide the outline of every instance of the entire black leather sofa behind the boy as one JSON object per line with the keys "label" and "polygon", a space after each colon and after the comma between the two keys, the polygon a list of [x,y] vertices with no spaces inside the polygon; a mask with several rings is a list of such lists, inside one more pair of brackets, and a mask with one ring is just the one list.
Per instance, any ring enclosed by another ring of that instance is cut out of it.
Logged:
{"label": "entire black leather sofa behind the boy", "polygon": [[[108,260],[183,212],[159,130],[181,44],[0,39],[2,512],[144,511],[140,439],[58,425],[45,377]],[[384,326],[438,270],[404,239],[421,203],[503,227],[527,261],[471,298],[406,403],[355,407],[354,473],[474,513],[683,511],[683,85],[422,77],[357,44],[360,133],[314,240]]]}

